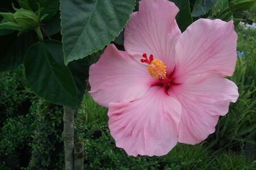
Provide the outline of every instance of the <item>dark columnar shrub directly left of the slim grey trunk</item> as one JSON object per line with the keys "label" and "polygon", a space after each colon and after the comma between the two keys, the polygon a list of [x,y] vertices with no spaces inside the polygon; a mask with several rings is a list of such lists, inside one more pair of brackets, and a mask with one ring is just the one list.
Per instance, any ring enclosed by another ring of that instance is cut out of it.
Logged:
{"label": "dark columnar shrub directly left of the slim grey trunk", "polygon": [[63,169],[62,115],[63,108],[59,105],[44,100],[37,104],[32,158],[28,169]]}

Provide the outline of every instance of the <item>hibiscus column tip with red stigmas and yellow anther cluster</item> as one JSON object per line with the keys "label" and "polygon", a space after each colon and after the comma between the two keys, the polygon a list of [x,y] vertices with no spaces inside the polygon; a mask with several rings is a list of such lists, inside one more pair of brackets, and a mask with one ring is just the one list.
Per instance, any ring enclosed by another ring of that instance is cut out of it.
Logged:
{"label": "hibiscus column tip with red stigmas and yellow anther cluster", "polygon": [[147,54],[142,54],[142,57],[146,59],[141,59],[141,62],[147,63],[147,70],[150,75],[155,79],[164,79],[166,77],[166,64],[160,59],[154,59],[151,54],[149,59]]}

